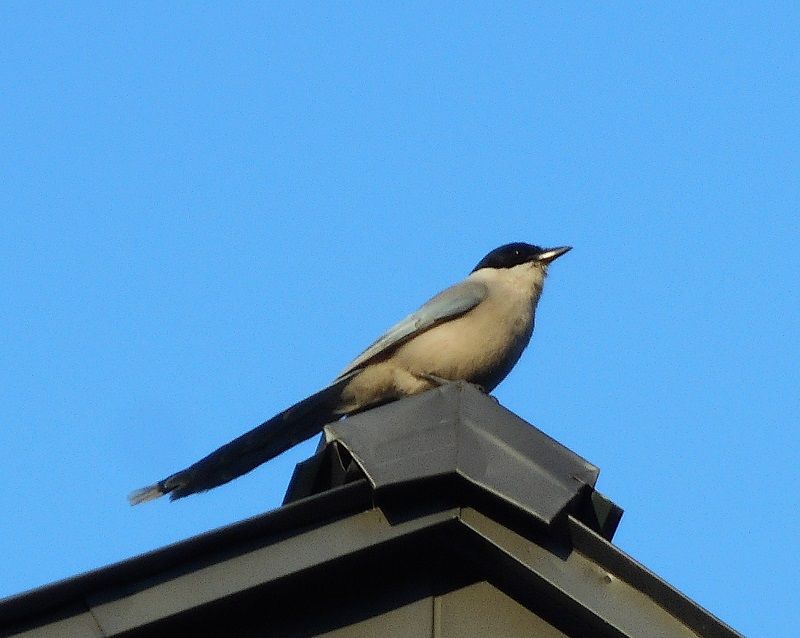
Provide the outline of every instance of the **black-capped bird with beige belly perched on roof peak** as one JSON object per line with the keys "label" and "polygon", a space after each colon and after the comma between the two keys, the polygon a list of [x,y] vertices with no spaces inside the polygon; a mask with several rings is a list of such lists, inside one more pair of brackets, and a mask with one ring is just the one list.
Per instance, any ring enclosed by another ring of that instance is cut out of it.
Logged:
{"label": "black-capped bird with beige belly perched on roof peak", "polygon": [[571,246],[524,242],[489,252],[461,282],[445,289],[389,328],[330,385],[189,467],[141,489],[137,505],[170,500],[227,483],[364,410],[467,381],[489,393],[508,375],[533,334],[548,265]]}

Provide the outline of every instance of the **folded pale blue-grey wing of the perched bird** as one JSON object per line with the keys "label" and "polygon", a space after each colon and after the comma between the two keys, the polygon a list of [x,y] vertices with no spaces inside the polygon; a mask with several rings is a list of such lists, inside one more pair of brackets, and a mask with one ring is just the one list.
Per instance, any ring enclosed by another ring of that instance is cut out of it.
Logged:
{"label": "folded pale blue-grey wing of the perched bird", "polygon": [[419,310],[389,328],[375,343],[342,370],[336,381],[353,370],[365,366],[388,350],[405,343],[415,335],[425,332],[437,323],[463,315],[485,299],[486,292],[484,284],[470,279],[443,290]]}

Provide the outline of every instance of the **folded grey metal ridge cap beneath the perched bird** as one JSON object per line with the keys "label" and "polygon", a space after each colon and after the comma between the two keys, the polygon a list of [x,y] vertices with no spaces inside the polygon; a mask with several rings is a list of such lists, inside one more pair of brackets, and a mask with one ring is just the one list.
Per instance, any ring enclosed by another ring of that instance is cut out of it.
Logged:
{"label": "folded grey metal ridge cap beneath the perched bird", "polygon": [[594,488],[599,470],[466,382],[325,426],[376,491],[448,474],[546,525]]}

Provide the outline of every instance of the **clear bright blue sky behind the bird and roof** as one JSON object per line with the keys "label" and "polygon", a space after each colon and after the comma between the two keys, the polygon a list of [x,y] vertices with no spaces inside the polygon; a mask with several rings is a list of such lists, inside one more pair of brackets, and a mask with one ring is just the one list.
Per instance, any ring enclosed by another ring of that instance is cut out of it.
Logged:
{"label": "clear bright blue sky behind the bird and roof", "polygon": [[498,399],[795,635],[800,12],[530,4],[0,6],[0,596],[276,507],[314,442],[125,495],[529,241],[575,249]]}

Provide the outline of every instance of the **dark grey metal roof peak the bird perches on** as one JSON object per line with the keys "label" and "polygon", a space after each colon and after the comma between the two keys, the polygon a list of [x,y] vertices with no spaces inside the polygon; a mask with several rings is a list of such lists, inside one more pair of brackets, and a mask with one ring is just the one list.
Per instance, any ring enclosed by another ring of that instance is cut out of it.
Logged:
{"label": "dark grey metal roof peak the bird perches on", "polygon": [[327,426],[272,512],[0,601],[0,634],[737,636],[610,542],[597,476],[449,384]]}

